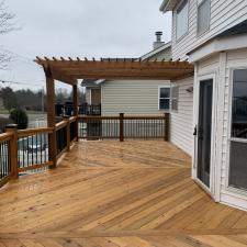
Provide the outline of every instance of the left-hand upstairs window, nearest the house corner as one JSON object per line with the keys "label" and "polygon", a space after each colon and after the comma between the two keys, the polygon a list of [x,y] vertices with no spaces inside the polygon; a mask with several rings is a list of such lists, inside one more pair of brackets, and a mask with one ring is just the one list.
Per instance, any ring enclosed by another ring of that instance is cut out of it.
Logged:
{"label": "left-hand upstairs window, nearest the house corner", "polygon": [[177,40],[182,37],[189,30],[189,2],[184,0],[177,10],[177,23],[176,23]]}

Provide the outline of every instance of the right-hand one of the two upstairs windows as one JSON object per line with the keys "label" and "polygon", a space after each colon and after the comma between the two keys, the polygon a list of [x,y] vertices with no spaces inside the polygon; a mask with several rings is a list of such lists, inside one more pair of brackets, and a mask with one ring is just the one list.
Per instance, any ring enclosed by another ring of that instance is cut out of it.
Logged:
{"label": "right-hand one of the two upstairs windows", "polygon": [[211,0],[203,0],[198,7],[198,34],[201,35],[210,29]]}

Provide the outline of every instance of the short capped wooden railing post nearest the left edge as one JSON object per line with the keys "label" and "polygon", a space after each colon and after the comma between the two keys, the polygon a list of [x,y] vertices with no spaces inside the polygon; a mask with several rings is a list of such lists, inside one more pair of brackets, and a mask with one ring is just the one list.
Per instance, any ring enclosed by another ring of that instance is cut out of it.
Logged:
{"label": "short capped wooden railing post nearest the left edge", "polygon": [[18,167],[18,125],[9,124],[5,127],[7,133],[12,134],[10,141],[10,166],[11,166],[11,177],[13,179],[19,178],[19,167]]}

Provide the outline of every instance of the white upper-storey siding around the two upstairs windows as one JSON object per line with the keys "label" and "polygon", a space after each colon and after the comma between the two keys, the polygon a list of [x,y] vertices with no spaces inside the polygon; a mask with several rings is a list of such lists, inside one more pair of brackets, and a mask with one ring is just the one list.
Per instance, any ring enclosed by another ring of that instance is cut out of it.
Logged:
{"label": "white upper-storey siding around the two upstairs windows", "polygon": [[176,40],[176,11],[172,12],[172,58],[186,59],[190,50],[205,43],[223,31],[247,19],[246,0],[211,0],[210,30],[201,36],[197,34],[198,0],[189,0],[189,32]]}

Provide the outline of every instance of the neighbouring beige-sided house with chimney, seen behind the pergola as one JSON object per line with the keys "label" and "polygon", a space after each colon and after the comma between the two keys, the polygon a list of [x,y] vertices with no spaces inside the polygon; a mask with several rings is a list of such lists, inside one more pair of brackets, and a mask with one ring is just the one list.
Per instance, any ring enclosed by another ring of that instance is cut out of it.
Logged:
{"label": "neighbouring beige-sided house with chimney, seen behind the pergola", "polygon": [[[142,60],[170,60],[170,43],[161,42],[157,32],[154,49],[141,57]],[[87,103],[101,102],[102,115],[157,115],[169,111],[170,81],[167,80],[83,80]]]}

